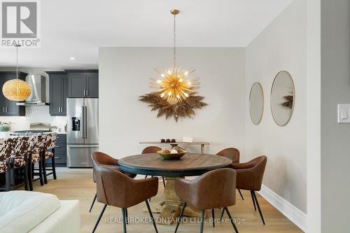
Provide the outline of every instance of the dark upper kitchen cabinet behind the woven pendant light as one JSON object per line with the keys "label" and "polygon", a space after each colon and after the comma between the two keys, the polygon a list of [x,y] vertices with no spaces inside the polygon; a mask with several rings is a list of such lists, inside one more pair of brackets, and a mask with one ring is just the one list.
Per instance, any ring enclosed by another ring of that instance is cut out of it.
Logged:
{"label": "dark upper kitchen cabinet behind the woven pendant light", "polygon": [[[18,72],[18,78],[25,80],[27,73]],[[7,72],[0,71],[0,87],[2,88],[3,84],[6,81],[17,78],[16,72]],[[4,116],[24,116],[25,115],[25,106],[18,106],[18,101],[11,101],[6,99],[3,96],[2,92],[0,93],[0,115]]]}

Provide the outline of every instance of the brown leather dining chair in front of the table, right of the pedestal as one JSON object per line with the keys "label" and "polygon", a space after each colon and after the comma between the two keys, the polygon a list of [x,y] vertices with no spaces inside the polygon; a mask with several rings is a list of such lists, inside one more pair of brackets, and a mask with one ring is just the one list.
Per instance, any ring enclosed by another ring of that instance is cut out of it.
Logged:
{"label": "brown leather dining chair in front of the table, right of the pedestal", "polygon": [[[183,211],[186,206],[202,211],[200,232],[203,232],[204,213],[207,209],[223,208],[228,213],[232,227],[238,233],[237,227],[232,220],[228,206],[236,204],[236,171],[230,168],[209,171],[194,180],[175,178],[175,192],[183,201],[183,207],[177,221],[175,233],[177,232]],[[215,221],[215,219],[213,219]]]}

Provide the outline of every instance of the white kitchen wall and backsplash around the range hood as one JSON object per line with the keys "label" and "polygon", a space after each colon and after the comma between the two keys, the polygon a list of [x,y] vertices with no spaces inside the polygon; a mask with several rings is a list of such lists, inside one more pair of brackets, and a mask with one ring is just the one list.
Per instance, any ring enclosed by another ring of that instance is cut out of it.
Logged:
{"label": "white kitchen wall and backsplash around the range hood", "polygon": [[[13,67],[0,67],[0,71],[15,71]],[[49,78],[45,71],[63,71],[62,69],[55,68],[27,68],[20,67],[19,71],[41,75],[46,77],[46,102],[50,102],[49,94]],[[0,122],[11,122],[11,131],[29,129],[29,124],[33,122],[48,123],[50,125],[55,125],[61,127],[64,130],[64,125],[66,125],[65,116],[51,116],[49,113],[49,106],[26,106],[26,113],[24,117],[3,117],[0,116]]]}

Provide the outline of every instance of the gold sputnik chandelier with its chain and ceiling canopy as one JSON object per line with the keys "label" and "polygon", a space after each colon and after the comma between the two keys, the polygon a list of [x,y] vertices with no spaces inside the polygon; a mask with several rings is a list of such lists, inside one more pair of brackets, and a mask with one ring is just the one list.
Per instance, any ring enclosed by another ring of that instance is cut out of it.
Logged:
{"label": "gold sputnik chandelier with its chain and ceiling canopy", "polygon": [[173,67],[169,69],[155,69],[159,74],[159,78],[151,78],[151,87],[155,88],[162,99],[168,101],[169,104],[177,104],[195,93],[200,87],[200,83],[196,78],[191,78],[191,74],[195,69],[186,70],[176,64],[176,15],[180,10],[170,10],[174,15],[174,62]]}

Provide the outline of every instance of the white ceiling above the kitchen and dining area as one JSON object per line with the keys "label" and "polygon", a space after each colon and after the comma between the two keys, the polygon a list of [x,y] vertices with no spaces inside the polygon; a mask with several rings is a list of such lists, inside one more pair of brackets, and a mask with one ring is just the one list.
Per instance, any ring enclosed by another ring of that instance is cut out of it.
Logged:
{"label": "white ceiling above the kitchen and dining area", "polygon": [[[291,1],[40,1],[41,48],[21,48],[19,62],[94,68],[99,46],[172,46],[172,8],[181,10],[176,17],[179,47],[246,47]],[[15,66],[15,49],[0,48],[0,66]]]}

